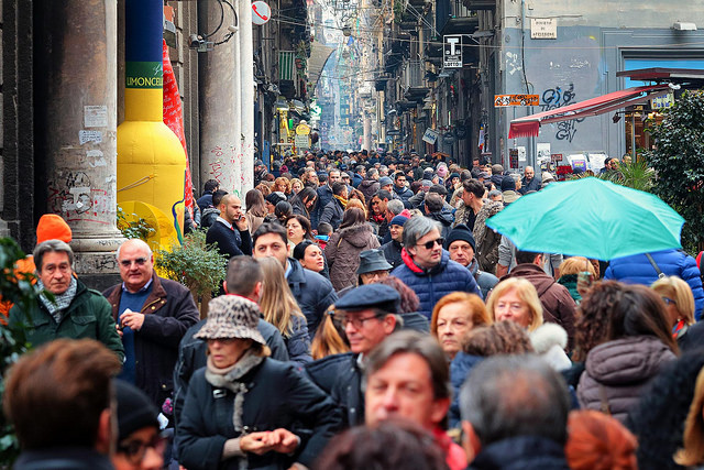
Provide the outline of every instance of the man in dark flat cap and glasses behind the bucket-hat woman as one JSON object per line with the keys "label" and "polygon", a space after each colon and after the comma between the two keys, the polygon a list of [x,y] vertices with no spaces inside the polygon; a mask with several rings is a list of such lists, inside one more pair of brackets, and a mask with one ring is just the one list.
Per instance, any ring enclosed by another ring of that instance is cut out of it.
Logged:
{"label": "man in dark flat cap and glasses behind the bucket-hat woman", "polygon": [[328,356],[306,365],[308,376],[343,408],[345,426],[364,423],[362,363],[396,328],[400,295],[383,284],[351,289],[336,303],[333,320],[344,328],[352,352]]}

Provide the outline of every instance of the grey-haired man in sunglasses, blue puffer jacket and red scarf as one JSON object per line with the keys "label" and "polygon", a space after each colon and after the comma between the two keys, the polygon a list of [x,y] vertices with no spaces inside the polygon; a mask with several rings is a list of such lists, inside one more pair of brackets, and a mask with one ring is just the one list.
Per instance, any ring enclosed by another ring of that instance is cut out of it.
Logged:
{"label": "grey-haired man in sunglasses, blue puffer jacket and red scarf", "polygon": [[404,225],[404,263],[392,272],[418,295],[418,313],[428,319],[436,303],[447,294],[459,291],[482,297],[472,274],[450,260],[450,253],[442,249],[443,242],[437,221],[413,217]]}

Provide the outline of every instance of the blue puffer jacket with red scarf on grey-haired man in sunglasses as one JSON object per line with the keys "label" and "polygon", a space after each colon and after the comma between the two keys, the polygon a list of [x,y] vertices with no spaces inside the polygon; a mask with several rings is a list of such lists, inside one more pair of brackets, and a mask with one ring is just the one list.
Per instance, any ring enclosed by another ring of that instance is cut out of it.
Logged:
{"label": "blue puffer jacket with red scarf on grey-haired man in sunglasses", "polygon": [[442,250],[440,263],[430,270],[424,270],[414,264],[405,249],[402,251],[402,258],[404,264],[396,267],[392,275],[402,280],[418,295],[420,299],[418,313],[428,319],[432,316],[432,307],[438,300],[452,292],[469,292],[482,297],[474,276],[462,264],[450,260],[450,253],[446,250]]}

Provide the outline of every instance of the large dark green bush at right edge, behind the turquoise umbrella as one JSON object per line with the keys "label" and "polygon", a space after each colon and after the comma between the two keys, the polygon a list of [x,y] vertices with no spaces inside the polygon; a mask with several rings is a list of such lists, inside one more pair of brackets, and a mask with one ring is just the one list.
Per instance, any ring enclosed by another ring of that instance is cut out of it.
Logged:
{"label": "large dark green bush at right edge, behind the turquoise umbrella", "polygon": [[657,174],[652,192],[684,219],[682,244],[689,250],[704,248],[704,92],[685,91],[661,123],[648,132],[657,147],[644,157]]}

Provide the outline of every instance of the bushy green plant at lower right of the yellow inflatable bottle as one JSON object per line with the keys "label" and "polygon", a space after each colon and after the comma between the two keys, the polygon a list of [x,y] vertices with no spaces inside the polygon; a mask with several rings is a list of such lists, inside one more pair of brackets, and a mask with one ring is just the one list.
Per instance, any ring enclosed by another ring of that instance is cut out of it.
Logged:
{"label": "bushy green plant at lower right of the yellow inflatable bottle", "polygon": [[158,250],[156,266],[166,277],[188,287],[197,296],[205,296],[222,285],[227,261],[216,249],[206,244],[206,232],[195,230],[184,238],[184,244],[172,251]]}

